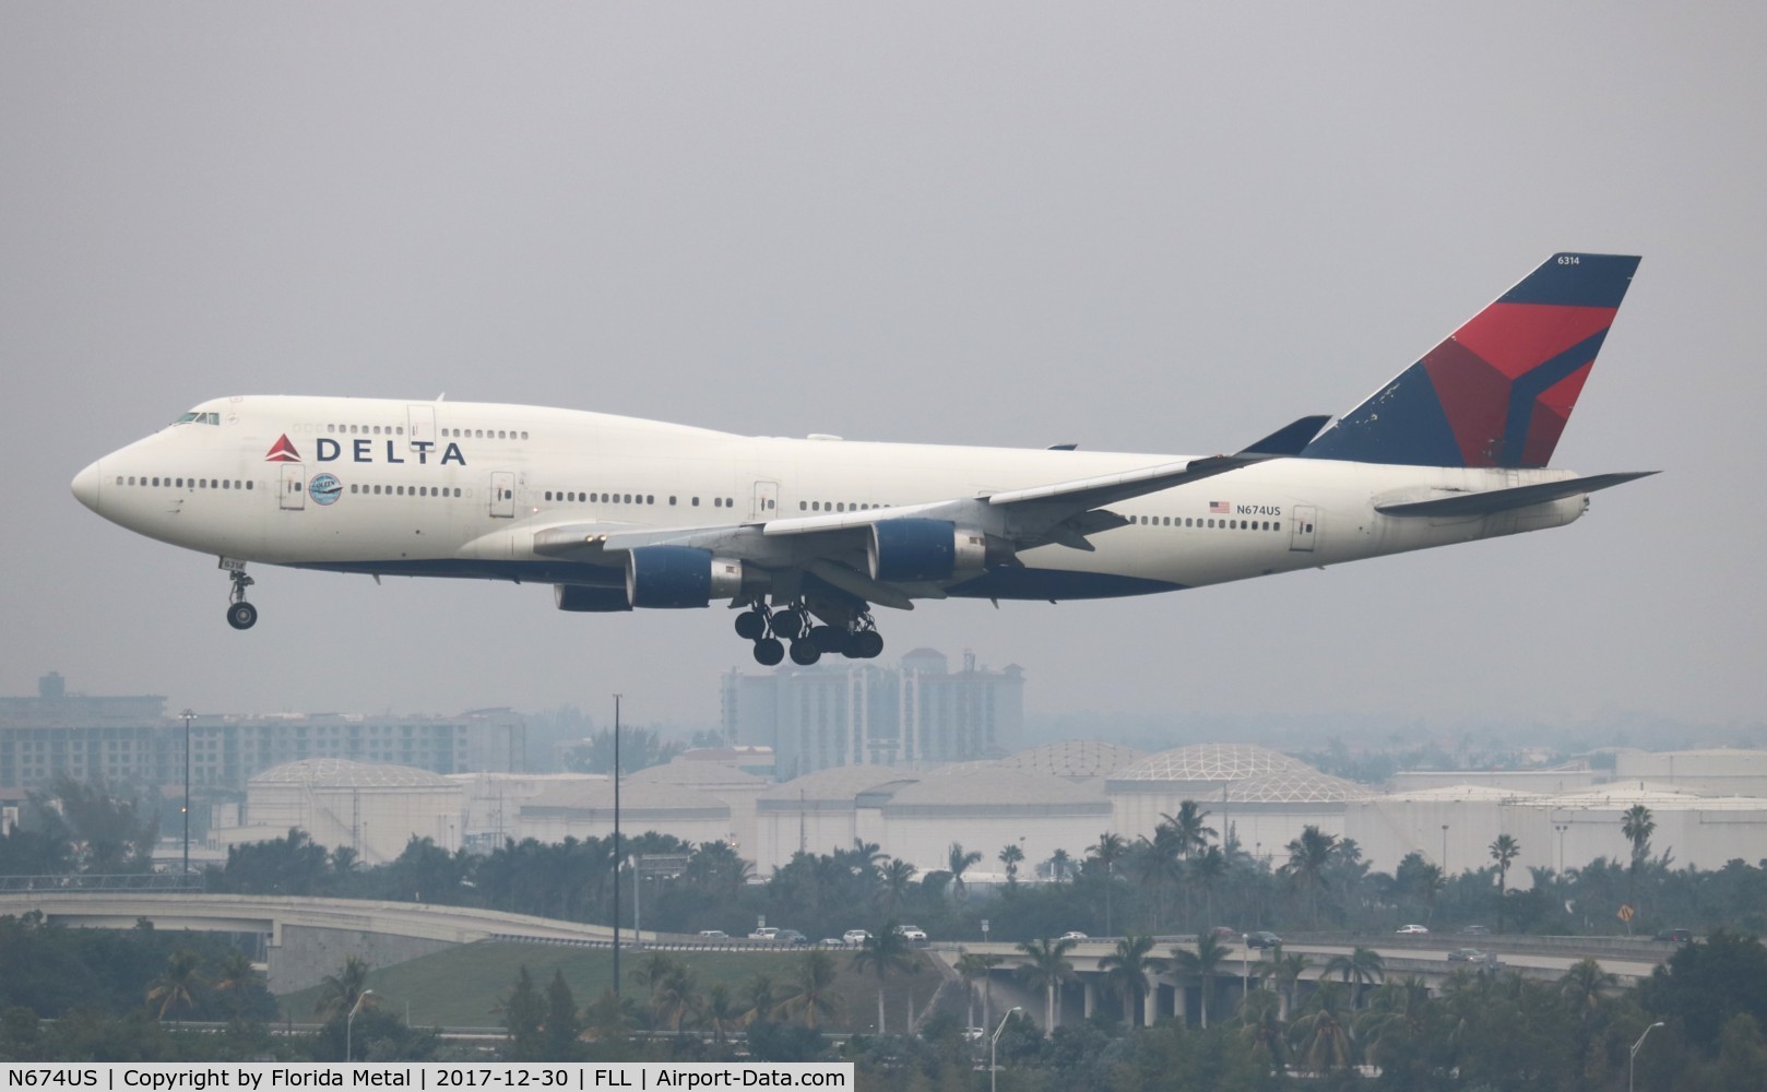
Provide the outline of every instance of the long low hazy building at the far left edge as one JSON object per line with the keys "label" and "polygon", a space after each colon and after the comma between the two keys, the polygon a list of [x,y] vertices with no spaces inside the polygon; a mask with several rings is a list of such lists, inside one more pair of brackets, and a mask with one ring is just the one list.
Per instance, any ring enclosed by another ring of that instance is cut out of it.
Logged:
{"label": "long low hazy building at the far left edge", "polygon": [[[69,694],[55,671],[35,698],[0,698],[0,797],[21,799],[57,776],[180,785],[184,717],[166,700]],[[521,772],[527,726],[509,709],[452,717],[378,714],[194,716],[191,785],[244,788],[284,762],[348,758],[435,774]]]}

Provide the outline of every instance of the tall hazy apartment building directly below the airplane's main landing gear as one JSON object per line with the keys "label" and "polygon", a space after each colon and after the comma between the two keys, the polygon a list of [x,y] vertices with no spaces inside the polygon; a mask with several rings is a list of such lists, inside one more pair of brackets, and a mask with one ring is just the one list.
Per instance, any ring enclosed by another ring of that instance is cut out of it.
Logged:
{"label": "tall hazy apartment building directly below the airplane's main landing gear", "polygon": [[951,670],[944,654],[915,648],[898,666],[866,661],[723,679],[724,739],[770,746],[774,776],[788,781],[843,765],[908,765],[1002,758],[1025,724],[1025,671]]}

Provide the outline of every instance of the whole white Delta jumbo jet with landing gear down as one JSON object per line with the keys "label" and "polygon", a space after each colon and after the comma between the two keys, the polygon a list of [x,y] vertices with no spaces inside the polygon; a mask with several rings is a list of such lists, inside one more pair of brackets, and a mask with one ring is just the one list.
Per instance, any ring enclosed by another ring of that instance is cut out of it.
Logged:
{"label": "whole white Delta jumbo jet with landing gear down", "polygon": [[[1368,401],[1237,454],[739,436],[541,406],[239,396],[72,482],[133,532],[246,562],[550,583],[567,611],[726,601],[755,659],[875,657],[871,606],[1170,592],[1564,527],[1551,458],[1638,258],[1553,254]],[[1654,474],[1654,472],[1649,472]]]}

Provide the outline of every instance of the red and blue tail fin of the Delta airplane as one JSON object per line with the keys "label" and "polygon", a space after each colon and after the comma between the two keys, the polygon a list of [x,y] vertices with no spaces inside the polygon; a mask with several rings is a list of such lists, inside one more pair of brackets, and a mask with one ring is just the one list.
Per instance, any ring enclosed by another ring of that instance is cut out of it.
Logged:
{"label": "red and blue tail fin of the Delta airplane", "polygon": [[1544,466],[1636,269],[1624,254],[1553,254],[1301,456]]}

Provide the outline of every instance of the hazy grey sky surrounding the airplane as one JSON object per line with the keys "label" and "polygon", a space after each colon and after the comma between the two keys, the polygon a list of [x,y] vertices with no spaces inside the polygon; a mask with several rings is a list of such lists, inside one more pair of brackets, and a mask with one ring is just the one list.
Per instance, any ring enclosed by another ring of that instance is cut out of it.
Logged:
{"label": "hazy grey sky surrounding the airplane", "polygon": [[1140,601],[885,611],[1041,710],[1762,717],[1756,5],[0,5],[0,693],[624,691],[728,611],[214,558],[67,491],[223,394],[1214,452],[1343,412],[1557,249],[1645,262],[1567,530]]}

